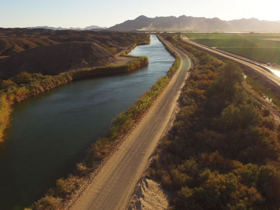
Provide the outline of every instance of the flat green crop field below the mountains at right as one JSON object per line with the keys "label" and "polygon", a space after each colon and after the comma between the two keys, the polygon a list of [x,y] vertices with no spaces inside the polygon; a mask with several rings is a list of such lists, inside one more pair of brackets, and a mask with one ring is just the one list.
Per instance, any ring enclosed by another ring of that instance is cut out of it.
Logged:
{"label": "flat green crop field below the mountains at right", "polygon": [[280,64],[280,34],[184,34],[193,41],[217,47],[262,63]]}

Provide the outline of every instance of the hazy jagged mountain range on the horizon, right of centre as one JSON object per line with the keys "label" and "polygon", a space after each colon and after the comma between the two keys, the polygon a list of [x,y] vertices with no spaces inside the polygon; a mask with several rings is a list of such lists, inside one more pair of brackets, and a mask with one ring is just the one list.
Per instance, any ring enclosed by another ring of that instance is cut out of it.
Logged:
{"label": "hazy jagged mountain range on the horizon, right of centre", "polygon": [[148,18],[144,15],[108,28],[112,31],[261,31],[279,32],[279,21],[265,21],[256,18],[224,21],[219,18],[170,16]]}

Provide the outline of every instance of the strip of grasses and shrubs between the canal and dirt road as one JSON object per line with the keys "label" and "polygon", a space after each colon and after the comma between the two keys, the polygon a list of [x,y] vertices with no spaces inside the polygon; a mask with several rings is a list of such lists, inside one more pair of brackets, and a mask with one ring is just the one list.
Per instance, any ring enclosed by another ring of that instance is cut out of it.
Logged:
{"label": "strip of grasses and shrubs between the canal and dirt road", "polygon": [[[134,126],[140,121],[143,114],[149,109],[156,98],[163,92],[175,71],[180,66],[180,58],[174,53],[175,61],[167,72],[167,75],[161,77],[157,82],[146,91],[134,105],[126,111],[120,113],[112,120],[107,135],[98,139],[86,151],[85,160],[76,165],[74,174],[68,178],[60,178],[56,182],[56,187],[50,189],[45,197],[30,208],[32,210],[57,210],[63,209],[64,204],[72,198],[72,195],[81,187],[83,181],[102,164],[112,151],[118,146],[118,143],[127,135]],[[26,209],[28,210],[28,209]]]}

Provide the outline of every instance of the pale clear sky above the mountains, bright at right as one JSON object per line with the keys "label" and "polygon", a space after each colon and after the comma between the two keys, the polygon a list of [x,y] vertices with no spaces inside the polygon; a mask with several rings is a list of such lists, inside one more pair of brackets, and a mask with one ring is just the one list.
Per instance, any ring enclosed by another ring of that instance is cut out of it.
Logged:
{"label": "pale clear sky above the mountains, bright at right", "polygon": [[0,0],[2,28],[110,27],[140,15],[276,21],[280,0]]}

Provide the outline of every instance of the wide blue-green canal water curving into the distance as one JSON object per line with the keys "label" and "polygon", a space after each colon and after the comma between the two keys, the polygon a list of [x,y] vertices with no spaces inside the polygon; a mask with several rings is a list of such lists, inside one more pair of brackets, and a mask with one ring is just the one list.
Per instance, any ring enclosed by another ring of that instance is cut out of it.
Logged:
{"label": "wide blue-green canal water curving into the distance", "polygon": [[72,172],[110,121],[166,74],[174,58],[155,35],[132,55],[149,65],[133,72],[70,82],[14,106],[0,145],[0,210],[21,209]]}

